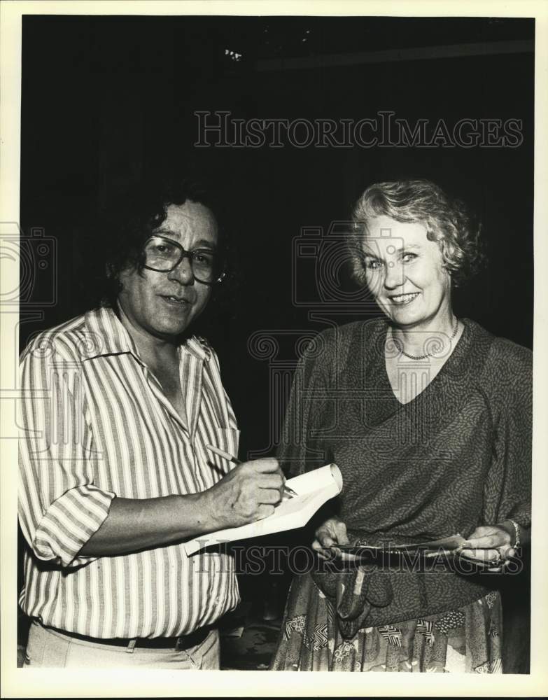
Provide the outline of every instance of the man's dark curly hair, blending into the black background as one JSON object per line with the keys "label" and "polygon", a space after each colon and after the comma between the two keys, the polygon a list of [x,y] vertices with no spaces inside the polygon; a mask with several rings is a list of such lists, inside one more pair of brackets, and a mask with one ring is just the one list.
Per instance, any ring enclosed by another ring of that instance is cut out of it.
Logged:
{"label": "man's dark curly hair, blending into the black background", "polygon": [[[193,171],[192,171],[193,172]],[[241,293],[237,270],[238,256],[230,236],[230,201],[218,188],[209,186],[213,179],[149,176],[113,193],[99,211],[88,216],[85,225],[76,227],[80,260],[78,276],[80,300],[77,311],[90,307],[116,308],[120,293],[120,272],[128,266],[143,273],[143,243],[165,220],[169,204],[197,202],[207,207],[218,224],[218,254],[227,274],[212,288],[205,311],[192,323],[192,332],[219,342],[234,321],[236,300]]]}

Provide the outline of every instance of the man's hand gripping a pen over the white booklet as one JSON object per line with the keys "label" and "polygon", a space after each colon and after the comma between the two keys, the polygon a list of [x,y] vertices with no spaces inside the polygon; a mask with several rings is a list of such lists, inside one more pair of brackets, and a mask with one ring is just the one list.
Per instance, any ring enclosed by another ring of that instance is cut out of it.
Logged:
{"label": "man's hand gripping a pen over the white booklet", "polygon": [[239,464],[205,492],[211,521],[219,528],[238,527],[272,515],[284,482],[277,459]]}

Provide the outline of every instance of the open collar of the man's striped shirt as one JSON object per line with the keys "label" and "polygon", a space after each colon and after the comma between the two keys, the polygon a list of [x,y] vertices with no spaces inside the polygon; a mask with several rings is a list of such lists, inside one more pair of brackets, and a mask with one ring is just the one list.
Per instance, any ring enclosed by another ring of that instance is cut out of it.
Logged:
{"label": "open collar of the man's striped shirt", "polygon": [[[87,311],[85,332],[86,338],[81,349],[83,360],[91,360],[105,355],[131,353],[141,365],[145,364],[132,337],[111,307],[100,307]],[[208,342],[197,335],[192,335],[185,340],[179,348],[202,361],[209,361],[211,358],[211,347]]]}

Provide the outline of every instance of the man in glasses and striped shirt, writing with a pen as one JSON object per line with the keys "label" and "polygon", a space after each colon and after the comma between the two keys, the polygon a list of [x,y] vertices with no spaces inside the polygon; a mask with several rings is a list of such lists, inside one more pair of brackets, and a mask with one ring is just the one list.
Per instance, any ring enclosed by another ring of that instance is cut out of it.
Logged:
{"label": "man in glasses and striped shirt, writing with a pen", "polygon": [[207,449],[237,454],[239,431],[216,353],[188,332],[223,279],[203,200],[136,202],[108,231],[110,303],[22,353],[29,666],[219,667],[233,561],[181,542],[267,517],[283,476]]}

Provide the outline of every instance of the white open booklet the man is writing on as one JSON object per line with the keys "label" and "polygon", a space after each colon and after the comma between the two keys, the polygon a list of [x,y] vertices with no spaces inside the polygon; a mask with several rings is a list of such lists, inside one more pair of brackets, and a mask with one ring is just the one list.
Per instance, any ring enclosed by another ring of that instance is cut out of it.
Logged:
{"label": "white open booklet the man is writing on", "polygon": [[199,535],[194,540],[185,542],[185,552],[190,556],[209,545],[302,527],[318,508],[341,492],[342,475],[336,464],[326,464],[314,471],[288,479],[286,485],[290,486],[297,496],[284,496],[269,517],[240,527]]}

